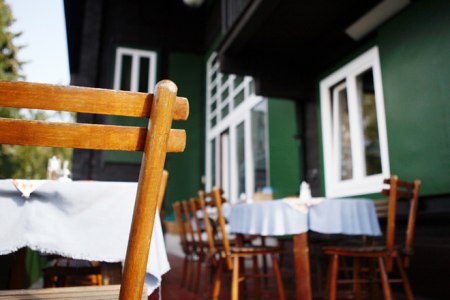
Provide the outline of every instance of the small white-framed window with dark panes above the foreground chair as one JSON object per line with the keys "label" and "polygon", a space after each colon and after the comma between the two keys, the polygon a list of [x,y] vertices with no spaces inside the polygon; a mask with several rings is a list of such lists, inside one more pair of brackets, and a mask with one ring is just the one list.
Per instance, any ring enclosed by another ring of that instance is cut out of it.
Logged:
{"label": "small white-framed window with dark panes above the foreground chair", "polygon": [[156,84],[156,52],[117,48],[114,89],[153,92]]}

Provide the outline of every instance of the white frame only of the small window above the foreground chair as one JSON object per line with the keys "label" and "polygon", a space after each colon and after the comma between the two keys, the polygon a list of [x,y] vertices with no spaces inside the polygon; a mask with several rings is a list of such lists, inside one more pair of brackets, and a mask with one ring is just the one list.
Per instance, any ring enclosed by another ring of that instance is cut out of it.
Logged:
{"label": "white frame only of the small window above the foreground chair", "polygon": [[139,88],[139,62],[140,58],[145,57],[149,59],[149,74],[148,74],[148,90],[147,92],[153,92],[156,85],[156,59],[157,54],[155,51],[133,49],[118,47],[116,50],[116,68],[114,70],[114,89],[120,89],[120,79],[122,74],[122,61],[123,56],[131,56],[131,79],[130,79],[130,91],[137,92]]}

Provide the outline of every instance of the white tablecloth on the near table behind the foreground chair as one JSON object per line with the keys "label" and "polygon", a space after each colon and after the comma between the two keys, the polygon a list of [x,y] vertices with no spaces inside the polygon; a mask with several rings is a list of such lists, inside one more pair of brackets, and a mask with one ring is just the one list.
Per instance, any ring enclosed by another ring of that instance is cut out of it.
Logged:
{"label": "white tablecloth on the near table behind the foreground chair", "polygon": [[[29,247],[74,259],[124,261],[137,183],[40,183],[28,196],[13,180],[0,180],[0,255]],[[156,214],[145,279],[148,293],[169,269]]]}

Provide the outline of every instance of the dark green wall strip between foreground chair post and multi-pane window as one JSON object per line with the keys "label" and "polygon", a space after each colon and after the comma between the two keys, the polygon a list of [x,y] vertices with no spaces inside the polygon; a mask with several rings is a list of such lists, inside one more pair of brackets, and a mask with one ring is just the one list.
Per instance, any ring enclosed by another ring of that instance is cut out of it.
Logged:
{"label": "dark green wall strip between foreground chair post and multi-pane window", "polygon": [[173,128],[186,129],[186,150],[169,153],[166,169],[169,171],[163,208],[166,215],[172,213],[172,203],[197,195],[202,187],[204,170],[204,62],[199,55],[171,53],[169,55],[169,79],[178,86],[178,95],[189,100],[187,121],[175,121]]}

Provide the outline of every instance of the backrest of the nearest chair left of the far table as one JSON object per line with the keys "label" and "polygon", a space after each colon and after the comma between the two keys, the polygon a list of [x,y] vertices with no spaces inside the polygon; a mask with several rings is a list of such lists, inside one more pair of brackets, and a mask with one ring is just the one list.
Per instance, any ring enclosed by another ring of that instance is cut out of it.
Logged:
{"label": "backrest of the nearest chair left of the far table", "polygon": [[[210,249],[210,254],[214,255],[218,251],[222,251],[222,254],[225,255],[227,268],[231,270],[233,263],[231,256],[228,255],[231,253],[230,241],[228,239],[226,221],[222,210],[222,204],[226,202],[223,198],[223,191],[218,187],[213,187],[211,192],[206,193],[204,191],[199,191],[198,195],[198,203],[200,204],[204,215],[203,221],[208,236],[208,248]],[[208,213],[207,207],[212,207],[215,210],[214,217]],[[220,239],[218,241],[220,248],[217,247],[217,239]]]}

